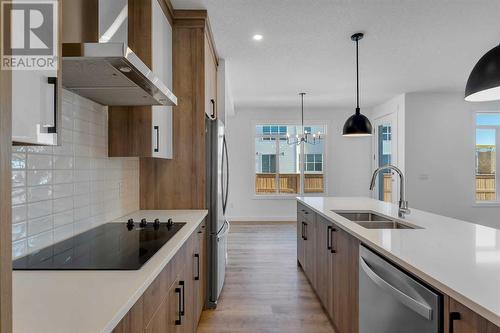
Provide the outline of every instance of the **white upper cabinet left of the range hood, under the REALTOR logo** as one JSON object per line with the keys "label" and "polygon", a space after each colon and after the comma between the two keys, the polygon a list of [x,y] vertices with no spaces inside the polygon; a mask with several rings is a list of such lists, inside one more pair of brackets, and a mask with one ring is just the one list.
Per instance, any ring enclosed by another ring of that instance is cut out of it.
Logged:
{"label": "white upper cabinet left of the range hood, under the REALTOR logo", "polygon": [[[36,1],[30,2],[38,6],[30,7],[14,1],[11,10],[13,58],[42,65],[18,66],[12,70],[12,141],[57,145],[61,119],[57,70],[59,2],[39,2],[39,6]],[[35,26],[39,28],[30,28]],[[56,65],[46,66],[50,63]]]}

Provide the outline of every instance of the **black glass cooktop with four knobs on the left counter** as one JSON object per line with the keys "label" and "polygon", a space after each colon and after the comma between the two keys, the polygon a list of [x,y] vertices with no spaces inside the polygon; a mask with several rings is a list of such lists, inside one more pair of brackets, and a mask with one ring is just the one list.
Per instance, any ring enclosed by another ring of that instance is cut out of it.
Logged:
{"label": "black glass cooktop with four knobs on the left counter", "polygon": [[137,270],[186,223],[106,223],[13,262],[14,270]]}

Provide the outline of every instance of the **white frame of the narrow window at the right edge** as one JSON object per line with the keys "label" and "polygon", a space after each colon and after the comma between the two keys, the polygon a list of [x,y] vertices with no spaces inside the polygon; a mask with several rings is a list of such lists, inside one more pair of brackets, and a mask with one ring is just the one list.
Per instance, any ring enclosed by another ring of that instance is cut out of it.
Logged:
{"label": "white frame of the narrow window at the right edge", "polygon": [[[472,125],[473,125],[473,144],[472,144],[472,200],[473,206],[500,206],[500,175],[498,171],[500,170],[500,154],[498,153],[498,148],[500,147],[500,125],[477,125],[477,116],[479,114],[498,114],[500,116],[500,110],[476,110],[472,112]],[[478,129],[494,129],[495,130],[495,194],[496,199],[491,201],[478,201],[476,197],[476,144],[477,144],[477,130]]]}

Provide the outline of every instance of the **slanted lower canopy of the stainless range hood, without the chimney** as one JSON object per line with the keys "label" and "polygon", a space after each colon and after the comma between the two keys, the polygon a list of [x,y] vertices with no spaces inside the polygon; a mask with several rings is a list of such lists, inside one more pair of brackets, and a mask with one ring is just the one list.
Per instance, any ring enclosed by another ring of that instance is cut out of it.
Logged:
{"label": "slanted lower canopy of the stainless range hood, without the chimney", "polygon": [[177,105],[177,97],[123,43],[63,45],[63,86],[102,105]]}

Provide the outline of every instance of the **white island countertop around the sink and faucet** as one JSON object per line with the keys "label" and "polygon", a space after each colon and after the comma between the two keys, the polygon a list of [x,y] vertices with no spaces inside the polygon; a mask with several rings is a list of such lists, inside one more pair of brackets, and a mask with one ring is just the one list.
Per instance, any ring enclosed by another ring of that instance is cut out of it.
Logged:
{"label": "white island countertop around the sink and faucet", "polygon": [[423,229],[366,229],[332,210],[371,210],[397,219],[397,205],[370,198],[298,200],[500,326],[500,230],[411,207],[411,213],[403,220]]}

